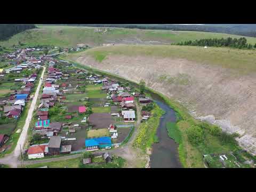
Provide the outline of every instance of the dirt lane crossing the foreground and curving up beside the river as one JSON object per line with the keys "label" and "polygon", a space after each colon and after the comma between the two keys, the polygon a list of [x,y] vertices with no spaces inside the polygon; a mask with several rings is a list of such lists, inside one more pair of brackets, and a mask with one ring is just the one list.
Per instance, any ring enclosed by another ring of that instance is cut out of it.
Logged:
{"label": "dirt lane crossing the foreground and curving up beside the river", "polygon": [[[134,167],[138,163],[138,155],[139,151],[138,149],[132,148],[132,143],[134,139],[136,138],[138,134],[138,128],[141,123],[141,110],[140,106],[138,105],[138,102],[135,102],[136,108],[137,108],[137,123],[134,127],[134,132],[130,138],[130,140],[124,145],[121,146],[117,149],[109,149],[107,151],[111,152],[111,154],[114,154],[116,156],[120,156],[126,159],[126,167]],[[98,153],[98,152],[95,152]],[[63,157],[57,157],[57,158],[50,158],[50,159],[42,159],[38,161],[26,161],[22,162],[22,165],[31,165],[31,164],[36,164],[36,163],[47,163],[47,162],[54,162],[54,161],[61,161],[61,160],[67,160],[67,159],[72,159],[72,158],[77,158],[81,156],[81,154],[75,154],[75,155],[69,155],[69,156],[63,156]],[[142,159],[143,161],[143,159]],[[0,161],[1,163],[1,161]],[[20,162],[16,161],[20,165]]]}

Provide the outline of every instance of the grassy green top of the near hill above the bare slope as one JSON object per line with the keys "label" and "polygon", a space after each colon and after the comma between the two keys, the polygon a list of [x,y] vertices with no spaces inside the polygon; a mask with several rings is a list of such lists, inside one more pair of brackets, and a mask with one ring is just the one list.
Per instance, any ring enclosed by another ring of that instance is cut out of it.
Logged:
{"label": "grassy green top of the near hill above the bare slope", "polygon": [[[95,47],[83,52],[68,54],[66,58],[76,60],[78,57],[91,55],[102,61],[111,55],[127,55],[131,57],[149,56],[158,58],[187,59],[201,64],[217,65],[236,69],[241,72],[256,71],[256,51],[239,50],[226,47],[178,46],[178,45],[116,45]],[[102,55],[104,56],[102,59]]]}

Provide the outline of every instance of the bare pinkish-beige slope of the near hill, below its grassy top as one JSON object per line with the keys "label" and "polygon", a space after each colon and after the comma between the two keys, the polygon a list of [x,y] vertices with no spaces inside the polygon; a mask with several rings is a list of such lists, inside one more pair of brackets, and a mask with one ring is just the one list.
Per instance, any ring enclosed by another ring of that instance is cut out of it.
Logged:
{"label": "bare pinkish-beige slope of the near hill, below its grassy top", "polygon": [[241,135],[241,146],[256,154],[256,74],[202,65],[186,59],[108,55],[102,62],[90,56],[76,59],[84,65],[139,82],[186,106],[196,118]]}

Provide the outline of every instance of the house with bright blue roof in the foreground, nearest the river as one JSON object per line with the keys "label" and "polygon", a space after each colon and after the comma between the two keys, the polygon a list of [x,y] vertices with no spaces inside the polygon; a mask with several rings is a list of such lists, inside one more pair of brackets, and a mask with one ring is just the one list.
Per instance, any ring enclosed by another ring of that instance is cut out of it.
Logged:
{"label": "house with bright blue roof in the foreground, nearest the river", "polygon": [[99,137],[93,139],[85,139],[85,148],[87,151],[106,149],[111,147],[110,137]]}

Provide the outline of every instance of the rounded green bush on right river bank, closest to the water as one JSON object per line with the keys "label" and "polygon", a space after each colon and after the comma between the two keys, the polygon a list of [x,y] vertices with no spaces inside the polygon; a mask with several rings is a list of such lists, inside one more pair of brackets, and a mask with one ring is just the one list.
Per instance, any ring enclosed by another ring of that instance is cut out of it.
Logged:
{"label": "rounded green bush on right river bank, closest to the water", "polygon": [[188,141],[191,145],[198,145],[204,139],[204,131],[201,127],[193,125],[187,129]]}

